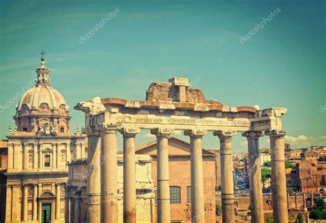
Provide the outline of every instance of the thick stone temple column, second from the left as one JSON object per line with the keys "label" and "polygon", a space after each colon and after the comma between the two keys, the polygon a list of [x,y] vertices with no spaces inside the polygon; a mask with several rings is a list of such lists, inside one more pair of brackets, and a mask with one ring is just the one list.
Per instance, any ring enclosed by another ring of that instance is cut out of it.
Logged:
{"label": "thick stone temple column, second from the left", "polygon": [[118,222],[117,136],[116,127],[102,124],[100,169],[100,222]]}

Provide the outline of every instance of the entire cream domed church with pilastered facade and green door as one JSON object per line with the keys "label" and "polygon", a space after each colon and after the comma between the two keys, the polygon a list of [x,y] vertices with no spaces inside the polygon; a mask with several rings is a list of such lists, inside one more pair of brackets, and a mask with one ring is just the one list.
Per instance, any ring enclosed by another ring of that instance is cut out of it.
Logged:
{"label": "entire cream domed church with pilastered facade and green door", "polygon": [[86,136],[69,131],[69,106],[49,73],[42,56],[1,142],[0,222],[65,222],[67,162],[87,157]]}

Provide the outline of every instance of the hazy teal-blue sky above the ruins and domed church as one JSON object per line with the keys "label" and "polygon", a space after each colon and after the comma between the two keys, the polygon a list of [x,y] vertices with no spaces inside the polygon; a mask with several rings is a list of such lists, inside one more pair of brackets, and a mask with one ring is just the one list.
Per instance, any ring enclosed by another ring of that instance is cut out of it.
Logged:
{"label": "hazy teal-blue sky above the ruins and domed church", "polygon": [[[229,106],[286,107],[292,147],[326,145],[325,1],[0,2],[1,106],[34,80],[44,50],[52,86],[70,105],[72,131],[84,123],[73,109],[79,101],[144,100],[152,82],[179,76],[200,79],[193,87]],[[18,103],[0,113],[0,138],[14,125]],[[144,131],[136,142],[148,140]],[[217,138],[204,136],[204,147],[219,147]],[[233,149],[246,151],[240,134]]]}

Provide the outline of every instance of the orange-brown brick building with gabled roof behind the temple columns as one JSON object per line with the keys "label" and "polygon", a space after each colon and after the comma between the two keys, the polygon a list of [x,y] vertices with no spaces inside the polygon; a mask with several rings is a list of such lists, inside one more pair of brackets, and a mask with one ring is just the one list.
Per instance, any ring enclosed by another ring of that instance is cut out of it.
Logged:
{"label": "orange-brown brick building with gabled roof behind the temple columns", "polygon": [[[188,142],[169,137],[169,173],[171,222],[191,222],[191,146]],[[157,187],[157,140],[138,147],[137,154],[153,158],[151,176]],[[206,222],[215,222],[216,154],[202,149],[204,169],[204,206]],[[155,210],[154,213],[157,213]]]}

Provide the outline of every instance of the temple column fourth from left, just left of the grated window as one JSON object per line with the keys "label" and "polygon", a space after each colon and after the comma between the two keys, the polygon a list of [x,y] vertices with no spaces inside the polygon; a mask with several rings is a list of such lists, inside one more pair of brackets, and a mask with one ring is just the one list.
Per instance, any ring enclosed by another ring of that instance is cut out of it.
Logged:
{"label": "temple column fourth from left, just left of the grated window", "polygon": [[151,129],[157,138],[157,222],[171,222],[169,184],[169,139],[171,129]]}

